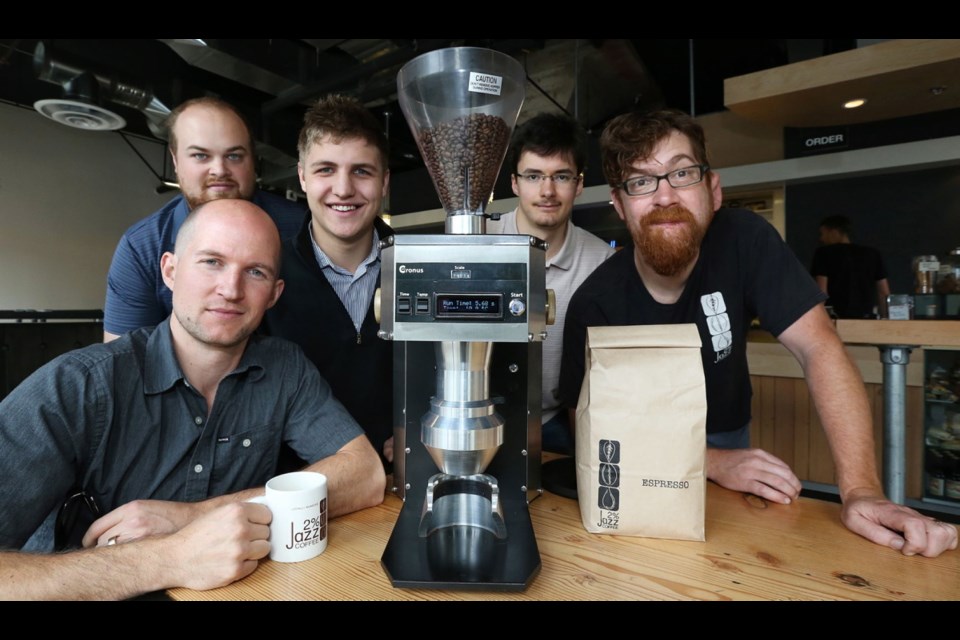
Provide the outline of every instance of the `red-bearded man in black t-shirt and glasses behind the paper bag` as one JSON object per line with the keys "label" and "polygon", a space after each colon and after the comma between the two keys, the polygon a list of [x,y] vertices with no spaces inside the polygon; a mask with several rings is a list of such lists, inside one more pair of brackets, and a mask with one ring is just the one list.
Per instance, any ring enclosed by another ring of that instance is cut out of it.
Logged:
{"label": "red-bearded man in black t-shirt and glasses behind the paper bag", "polygon": [[680,111],[630,113],[610,121],[600,144],[634,250],[600,265],[570,302],[560,374],[566,406],[575,408],[580,394],[587,327],[695,323],[707,386],[707,477],[790,503],[800,495],[796,475],[750,448],[747,331],[759,317],[803,368],[833,452],[843,523],[905,555],[956,548],[955,527],[884,497],[866,390],[825,295],[763,218],[720,208],[700,125]]}

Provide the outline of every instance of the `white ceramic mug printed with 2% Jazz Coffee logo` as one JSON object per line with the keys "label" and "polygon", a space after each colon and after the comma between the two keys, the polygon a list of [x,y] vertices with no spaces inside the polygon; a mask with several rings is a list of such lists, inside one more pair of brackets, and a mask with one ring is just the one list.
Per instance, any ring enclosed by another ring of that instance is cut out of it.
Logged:
{"label": "white ceramic mug printed with 2% Jazz Coffee logo", "polygon": [[300,562],[327,548],[327,477],[295,471],[271,478],[263,496],[248,502],[266,505],[270,522],[270,559]]}

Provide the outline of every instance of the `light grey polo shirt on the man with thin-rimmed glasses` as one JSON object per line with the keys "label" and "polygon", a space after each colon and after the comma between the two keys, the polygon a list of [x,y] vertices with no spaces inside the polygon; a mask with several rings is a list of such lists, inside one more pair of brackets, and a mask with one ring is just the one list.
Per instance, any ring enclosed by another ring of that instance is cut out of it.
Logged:
{"label": "light grey polo shirt on the man with thin-rimmed glasses", "polygon": [[[487,222],[487,232],[516,235],[517,210],[500,216],[499,221]],[[600,263],[614,254],[606,242],[585,229],[567,221],[567,237],[552,259],[547,260],[547,289],[557,297],[557,319],[547,327],[543,343],[543,388],[541,390],[541,421],[546,423],[560,410],[560,359],[563,355],[563,326],[570,298]]]}

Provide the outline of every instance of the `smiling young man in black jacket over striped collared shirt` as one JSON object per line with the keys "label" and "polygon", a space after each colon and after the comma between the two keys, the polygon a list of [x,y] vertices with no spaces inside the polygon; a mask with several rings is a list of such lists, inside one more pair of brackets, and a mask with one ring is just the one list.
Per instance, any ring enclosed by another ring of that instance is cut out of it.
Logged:
{"label": "smiling young man in black jacket over striped collared shirt", "polygon": [[304,115],[297,172],[310,214],[283,245],[286,290],[262,330],[303,348],[334,396],[387,462],[392,449],[392,350],[377,337],[380,218],[390,184],[388,146],[377,119],[354,98],[332,95]]}

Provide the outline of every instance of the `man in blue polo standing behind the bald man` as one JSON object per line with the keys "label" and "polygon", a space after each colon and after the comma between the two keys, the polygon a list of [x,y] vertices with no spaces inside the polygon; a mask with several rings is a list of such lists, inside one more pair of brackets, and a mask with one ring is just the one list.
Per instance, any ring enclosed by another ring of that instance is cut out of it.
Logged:
{"label": "man in blue polo standing behind the bald man", "polygon": [[166,126],[181,194],[120,238],[107,273],[105,342],[170,315],[160,256],[173,250],[177,230],[193,209],[222,198],[249,200],[273,219],[281,238],[297,233],[306,211],[257,188],[253,137],[231,105],[209,97],[188,100],[170,113]]}

